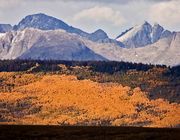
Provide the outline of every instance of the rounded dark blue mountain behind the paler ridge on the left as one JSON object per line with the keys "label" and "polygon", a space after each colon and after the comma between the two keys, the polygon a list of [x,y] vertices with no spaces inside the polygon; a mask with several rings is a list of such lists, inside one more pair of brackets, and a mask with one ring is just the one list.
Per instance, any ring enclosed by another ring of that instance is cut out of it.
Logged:
{"label": "rounded dark blue mountain behind the paler ridge on the left", "polygon": [[89,40],[98,42],[105,40],[108,41],[108,35],[101,29],[93,32],[87,33],[82,31],[81,29],[72,27],[67,23],[63,22],[60,19],[39,13],[34,15],[28,15],[24,19],[22,19],[18,25],[13,27],[14,30],[24,30],[26,28],[34,28],[40,30],[57,30],[62,29],[68,33],[74,33],[80,35],[82,37],[88,38]]}

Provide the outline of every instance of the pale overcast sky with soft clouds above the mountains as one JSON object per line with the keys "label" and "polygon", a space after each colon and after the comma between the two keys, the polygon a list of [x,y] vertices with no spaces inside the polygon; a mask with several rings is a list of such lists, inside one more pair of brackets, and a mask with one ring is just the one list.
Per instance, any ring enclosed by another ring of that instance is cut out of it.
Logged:
{"label": "pale overcast sky with soft clouds above the mountains", "polygon": [[113,38],[145,20],[180,31],[180,0],[0,0],[0,23],[14,25],[35,13],[87,32],[101,28]]}

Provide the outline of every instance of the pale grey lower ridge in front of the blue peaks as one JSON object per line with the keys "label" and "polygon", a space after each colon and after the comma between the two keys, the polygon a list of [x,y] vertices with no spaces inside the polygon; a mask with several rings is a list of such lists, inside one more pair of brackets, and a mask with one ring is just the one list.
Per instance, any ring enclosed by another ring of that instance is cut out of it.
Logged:
{"label": "pale grey lower ridge in front of the blue peaks", "polygon": [[[180,33],[173,33],[146,47],[128,49],[115,43],[93,42],[64,30],[31,28],[0,37],[0,59],[110,60],[174,66],[180,64],[179,44]],[[78,51],[83,48],[101,57],[89,57],[86,51]]]}

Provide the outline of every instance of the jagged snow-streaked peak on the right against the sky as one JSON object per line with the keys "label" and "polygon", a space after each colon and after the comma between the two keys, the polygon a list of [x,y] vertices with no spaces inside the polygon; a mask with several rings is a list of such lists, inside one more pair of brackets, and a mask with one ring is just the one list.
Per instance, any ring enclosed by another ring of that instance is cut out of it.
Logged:
{"label": "jagged snow-streaked peak on the right against the sky", "polygon": [[[166,34],[170,35],[171,32],[166,32]],[[155,43],[163,36],[164,28],[161,25],[155,23],[152,26],[147,21],[144,21],[143,24],[136,25],[123,32],[116,40],[124,43],[127,48],[137,48]]]}

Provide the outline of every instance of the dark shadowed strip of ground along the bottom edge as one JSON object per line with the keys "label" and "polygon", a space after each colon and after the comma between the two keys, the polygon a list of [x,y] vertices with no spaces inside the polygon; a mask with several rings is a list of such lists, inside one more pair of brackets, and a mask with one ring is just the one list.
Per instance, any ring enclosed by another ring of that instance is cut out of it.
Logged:
{"label": "dark shadowed strip of ground along the bottom edge", "polygon": [[178,140],[179,128],[0,125],[1,140]]}

